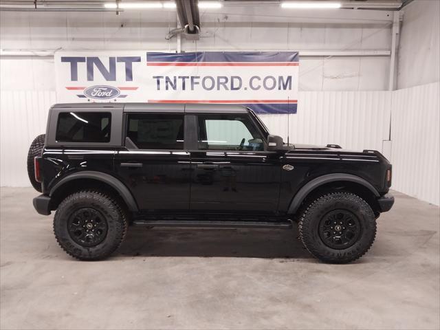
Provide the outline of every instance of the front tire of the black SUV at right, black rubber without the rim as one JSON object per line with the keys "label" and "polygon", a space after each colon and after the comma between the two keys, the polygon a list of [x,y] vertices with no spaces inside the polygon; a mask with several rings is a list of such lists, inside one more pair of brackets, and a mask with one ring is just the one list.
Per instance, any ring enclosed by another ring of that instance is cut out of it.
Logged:
{"label": "front tire of the black SUV at right, black rubber without the rim", "polygon": [[[348,248],[331,248],[320,236],[320,221],[334,210],[347,210],[358,217],[360,236]],[[364,199],[350,192],[334,192],[309,203],[298,223],[300,239],[305,248],[326,263],[350,263],[363,256],[376,236],[375,215]]]}

